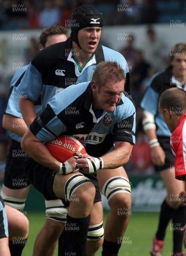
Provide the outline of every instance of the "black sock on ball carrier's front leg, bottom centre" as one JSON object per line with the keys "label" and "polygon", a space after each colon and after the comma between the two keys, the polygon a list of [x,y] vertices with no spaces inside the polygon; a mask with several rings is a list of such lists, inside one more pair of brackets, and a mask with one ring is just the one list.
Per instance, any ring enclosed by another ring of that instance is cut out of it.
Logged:
{"label": "black sock on ball carrier's front leg, bottom centre", "polygon": [[90,215],[86,218],[72,218],[67,214],[65,230],[70,234],[73,252],[76,256],[86,256],[87,232]]}

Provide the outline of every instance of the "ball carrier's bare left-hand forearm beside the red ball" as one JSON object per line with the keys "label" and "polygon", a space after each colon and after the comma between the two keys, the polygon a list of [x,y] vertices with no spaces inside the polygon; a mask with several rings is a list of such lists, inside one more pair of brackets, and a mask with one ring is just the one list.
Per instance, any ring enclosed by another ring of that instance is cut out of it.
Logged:
{"label": "ball carrier's bare left-hand forearm beside the red ball", "polygon": [[59,171],[61,163],[49,153],[46,146],[38,140],[31,131],[28,130],[23,136],[21,148],[36,162],[55,172]]}

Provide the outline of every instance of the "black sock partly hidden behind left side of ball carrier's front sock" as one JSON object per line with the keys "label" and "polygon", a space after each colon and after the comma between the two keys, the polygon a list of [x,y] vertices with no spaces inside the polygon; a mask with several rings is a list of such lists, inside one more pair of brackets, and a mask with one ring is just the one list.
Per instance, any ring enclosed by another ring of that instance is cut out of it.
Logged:
{"label": "black sock partly hidden behind left side of ball carrier's front sock", "polygon": [[61,233],[61,236],[58,239],[58,256],[67,255],[71,252],[73,255],[73,247],[70,240],[70,233],[65,230]]}

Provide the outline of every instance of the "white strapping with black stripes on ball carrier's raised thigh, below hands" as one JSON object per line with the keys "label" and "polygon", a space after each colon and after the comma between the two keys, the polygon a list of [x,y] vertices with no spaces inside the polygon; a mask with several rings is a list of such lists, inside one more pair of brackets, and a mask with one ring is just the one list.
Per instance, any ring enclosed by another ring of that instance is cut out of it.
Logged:
{"label": "white strapping with black stripes on ball carrier's raised thigh, below hands", "polygon": [[[84,177],[84,175],[82,175],[82,174],[76,174],[76,175],[71,176],[67,180],[67,182],[65,183],[65,186],[64,186],[65,199],[67,198],[67,200],[70,201],[70,198],[72,198],[72,197],[74,197],[73,200],[75,200],[76,196],[79,197],[79,195],[75,195],[74,192],[76,191],[76,189],[78,189],[80,186],[84,185],[87,182],[89,184],[92,184],[91,181],[87,177]],[[91,188],[91,185],[90,185],[90,188]],[[95,189],[95,187],[94,187],[94,189]],[[79,190],[78,190],[78,192],[79,192]],[[89,196],[88,191],[87,191],[86,195]]]}

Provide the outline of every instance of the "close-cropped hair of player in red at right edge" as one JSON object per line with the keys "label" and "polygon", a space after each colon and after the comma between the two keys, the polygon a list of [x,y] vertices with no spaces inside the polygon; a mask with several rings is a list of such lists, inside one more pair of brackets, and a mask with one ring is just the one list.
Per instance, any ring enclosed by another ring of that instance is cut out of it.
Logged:
{"label": "close-cropped hair of player in red at right edge", "polygon": [[165,90],[160,96],[159,105],[161,109],[179,110],[174,114],[182,115],[186,111],[186,91],[177,87]]}

